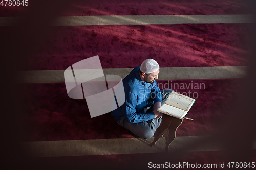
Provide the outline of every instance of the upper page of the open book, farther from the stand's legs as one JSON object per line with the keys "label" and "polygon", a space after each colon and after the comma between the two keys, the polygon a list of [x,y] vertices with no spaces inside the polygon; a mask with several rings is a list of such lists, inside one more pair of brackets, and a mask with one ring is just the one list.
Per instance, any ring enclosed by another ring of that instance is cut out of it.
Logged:
{"label": "upper page of the open book, farther from the stand's legs", "polygon": [[188,112],[194,102],[195,99],[189,98],[188,96],[173,91],[172,93],[170,93],[165,103],[167,105],[171,105]]}

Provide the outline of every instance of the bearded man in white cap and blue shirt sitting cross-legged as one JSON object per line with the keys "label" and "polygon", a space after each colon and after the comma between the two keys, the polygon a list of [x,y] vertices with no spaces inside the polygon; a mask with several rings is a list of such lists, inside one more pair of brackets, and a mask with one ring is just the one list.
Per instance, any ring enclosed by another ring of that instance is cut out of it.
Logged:
{"label": "bearded man in white cap and blue shirt sitting cross-legged", "polygon": [[173,90],[161,90],[157,86],[159,65],[146,59],[123,79],[125,102],[111,115],[117,123],[144,139],[151,138],[162,121],[157,109]]}

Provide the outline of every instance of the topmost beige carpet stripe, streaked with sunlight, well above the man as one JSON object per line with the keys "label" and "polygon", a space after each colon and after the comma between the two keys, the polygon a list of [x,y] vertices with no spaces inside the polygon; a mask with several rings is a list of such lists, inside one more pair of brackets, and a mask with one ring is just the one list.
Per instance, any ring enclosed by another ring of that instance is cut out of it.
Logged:
{"label": "topmost beige carpet stripe, streaked with sunlight, well above the man", "polygon": [[[0,26],[11,26],[18,17],[1,17]],[[54,26],[154,25],[198,23],[253,23],[253,15],[103,15],[57,17]]]}

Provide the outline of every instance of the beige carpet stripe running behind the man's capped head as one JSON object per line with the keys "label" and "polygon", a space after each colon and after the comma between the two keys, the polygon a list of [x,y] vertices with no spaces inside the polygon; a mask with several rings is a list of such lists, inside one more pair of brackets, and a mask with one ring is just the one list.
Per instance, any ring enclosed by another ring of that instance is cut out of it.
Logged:
{"label": "beige carpet stripe running behind the man's capped head", "polygon": [[[159,80],[181,79],[226,79],[242,78],[246,74],[246,66],[219,66],[219,67],[173,67],[160,68]],[[133,68],[103,69],[105,75],[119,75],[122,79]],[[65,82],[65,70],[34,70],[19,72],[19,82],[22,83],[54,83]]]}

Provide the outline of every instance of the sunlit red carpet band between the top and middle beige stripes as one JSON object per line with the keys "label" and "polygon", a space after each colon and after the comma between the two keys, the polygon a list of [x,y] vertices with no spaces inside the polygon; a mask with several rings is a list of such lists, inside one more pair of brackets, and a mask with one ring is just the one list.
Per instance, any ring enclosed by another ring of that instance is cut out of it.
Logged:
{"label": "sunlit red carpet band between the top and middle beige stripes", "polygon": [[[160,67],[247,63],[249,24],[54,27],[26,70],[65,70],[99,55],[103,68],[134,68],[147,58]],[[0,27],[4,32],[8,27]]]}

